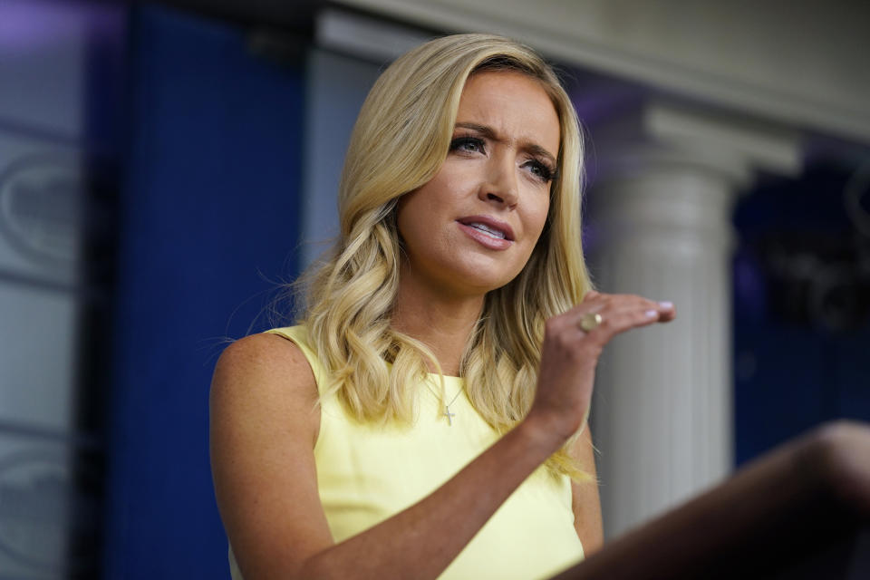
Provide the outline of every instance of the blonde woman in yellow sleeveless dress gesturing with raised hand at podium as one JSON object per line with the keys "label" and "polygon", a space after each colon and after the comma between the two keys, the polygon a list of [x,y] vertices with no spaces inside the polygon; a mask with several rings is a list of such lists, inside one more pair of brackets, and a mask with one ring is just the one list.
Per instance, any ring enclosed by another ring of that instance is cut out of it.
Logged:
{"label": "blonde woman in yellow sleeveless dress gesturing with raised hand at podium", "polygon": [[674,311],[591,289],[580,160],[525,46],[450,36],[382,74],[301,324],[215,372],[234,577],[547,577],[601,545],[595,364]]}

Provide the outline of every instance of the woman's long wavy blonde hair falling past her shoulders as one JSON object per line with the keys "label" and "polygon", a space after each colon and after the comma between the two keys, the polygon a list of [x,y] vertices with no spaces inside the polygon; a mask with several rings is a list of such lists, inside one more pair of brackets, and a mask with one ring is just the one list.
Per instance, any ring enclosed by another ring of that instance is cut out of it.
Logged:
{"label": "woman's long wavy blonde hair falling past her shoulders", "polygon": [[[331,377],[323,396],[337,394],[359,420],[411,420],[414,393],[405,385],[430,367],[440,371],[425,344],[391,328],[401,256],[396,203],[440,169],[465,82],[483,70],[518,71],[540,82],[561,134],[544,231],[522,272],[486,296],[460,365],[469,400],[498,432],[531,407],[546,319],[591,287],[580,244],[579,123],[549,65],[527,46],[491,34],[447,36],[404,54],[375,82],[353,128],[333,256],[304,276],[301,322]],[[566,447],[547,468],[582,478]]]}

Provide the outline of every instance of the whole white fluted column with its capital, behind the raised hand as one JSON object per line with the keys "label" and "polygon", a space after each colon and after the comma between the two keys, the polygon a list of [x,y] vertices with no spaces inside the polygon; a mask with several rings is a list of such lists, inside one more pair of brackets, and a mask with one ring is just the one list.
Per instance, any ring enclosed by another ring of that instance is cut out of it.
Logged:
{"label": "whole white fluted column with its capital, behind the raised hand", "polygon": [[788,134],[662,104],[591,133],[594,282],[678,312],[614,339],[598,367],[592,429],[613,537],[730,472],[731,208],[751,169],[794,172],[798,158]]}

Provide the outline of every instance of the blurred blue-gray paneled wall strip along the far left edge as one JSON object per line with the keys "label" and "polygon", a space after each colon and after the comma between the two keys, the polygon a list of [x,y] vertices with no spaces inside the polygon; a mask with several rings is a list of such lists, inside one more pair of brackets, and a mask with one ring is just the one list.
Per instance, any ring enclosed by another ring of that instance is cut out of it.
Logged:
{"label": "blurred blue-gray paneled wall strip along the far left edge", "polygon": [[0,0],[2,578],[96,574],[98,454],[68,438],[86,191],[73,147],[84,145],[89,44],[112,24],[104,12]]}

